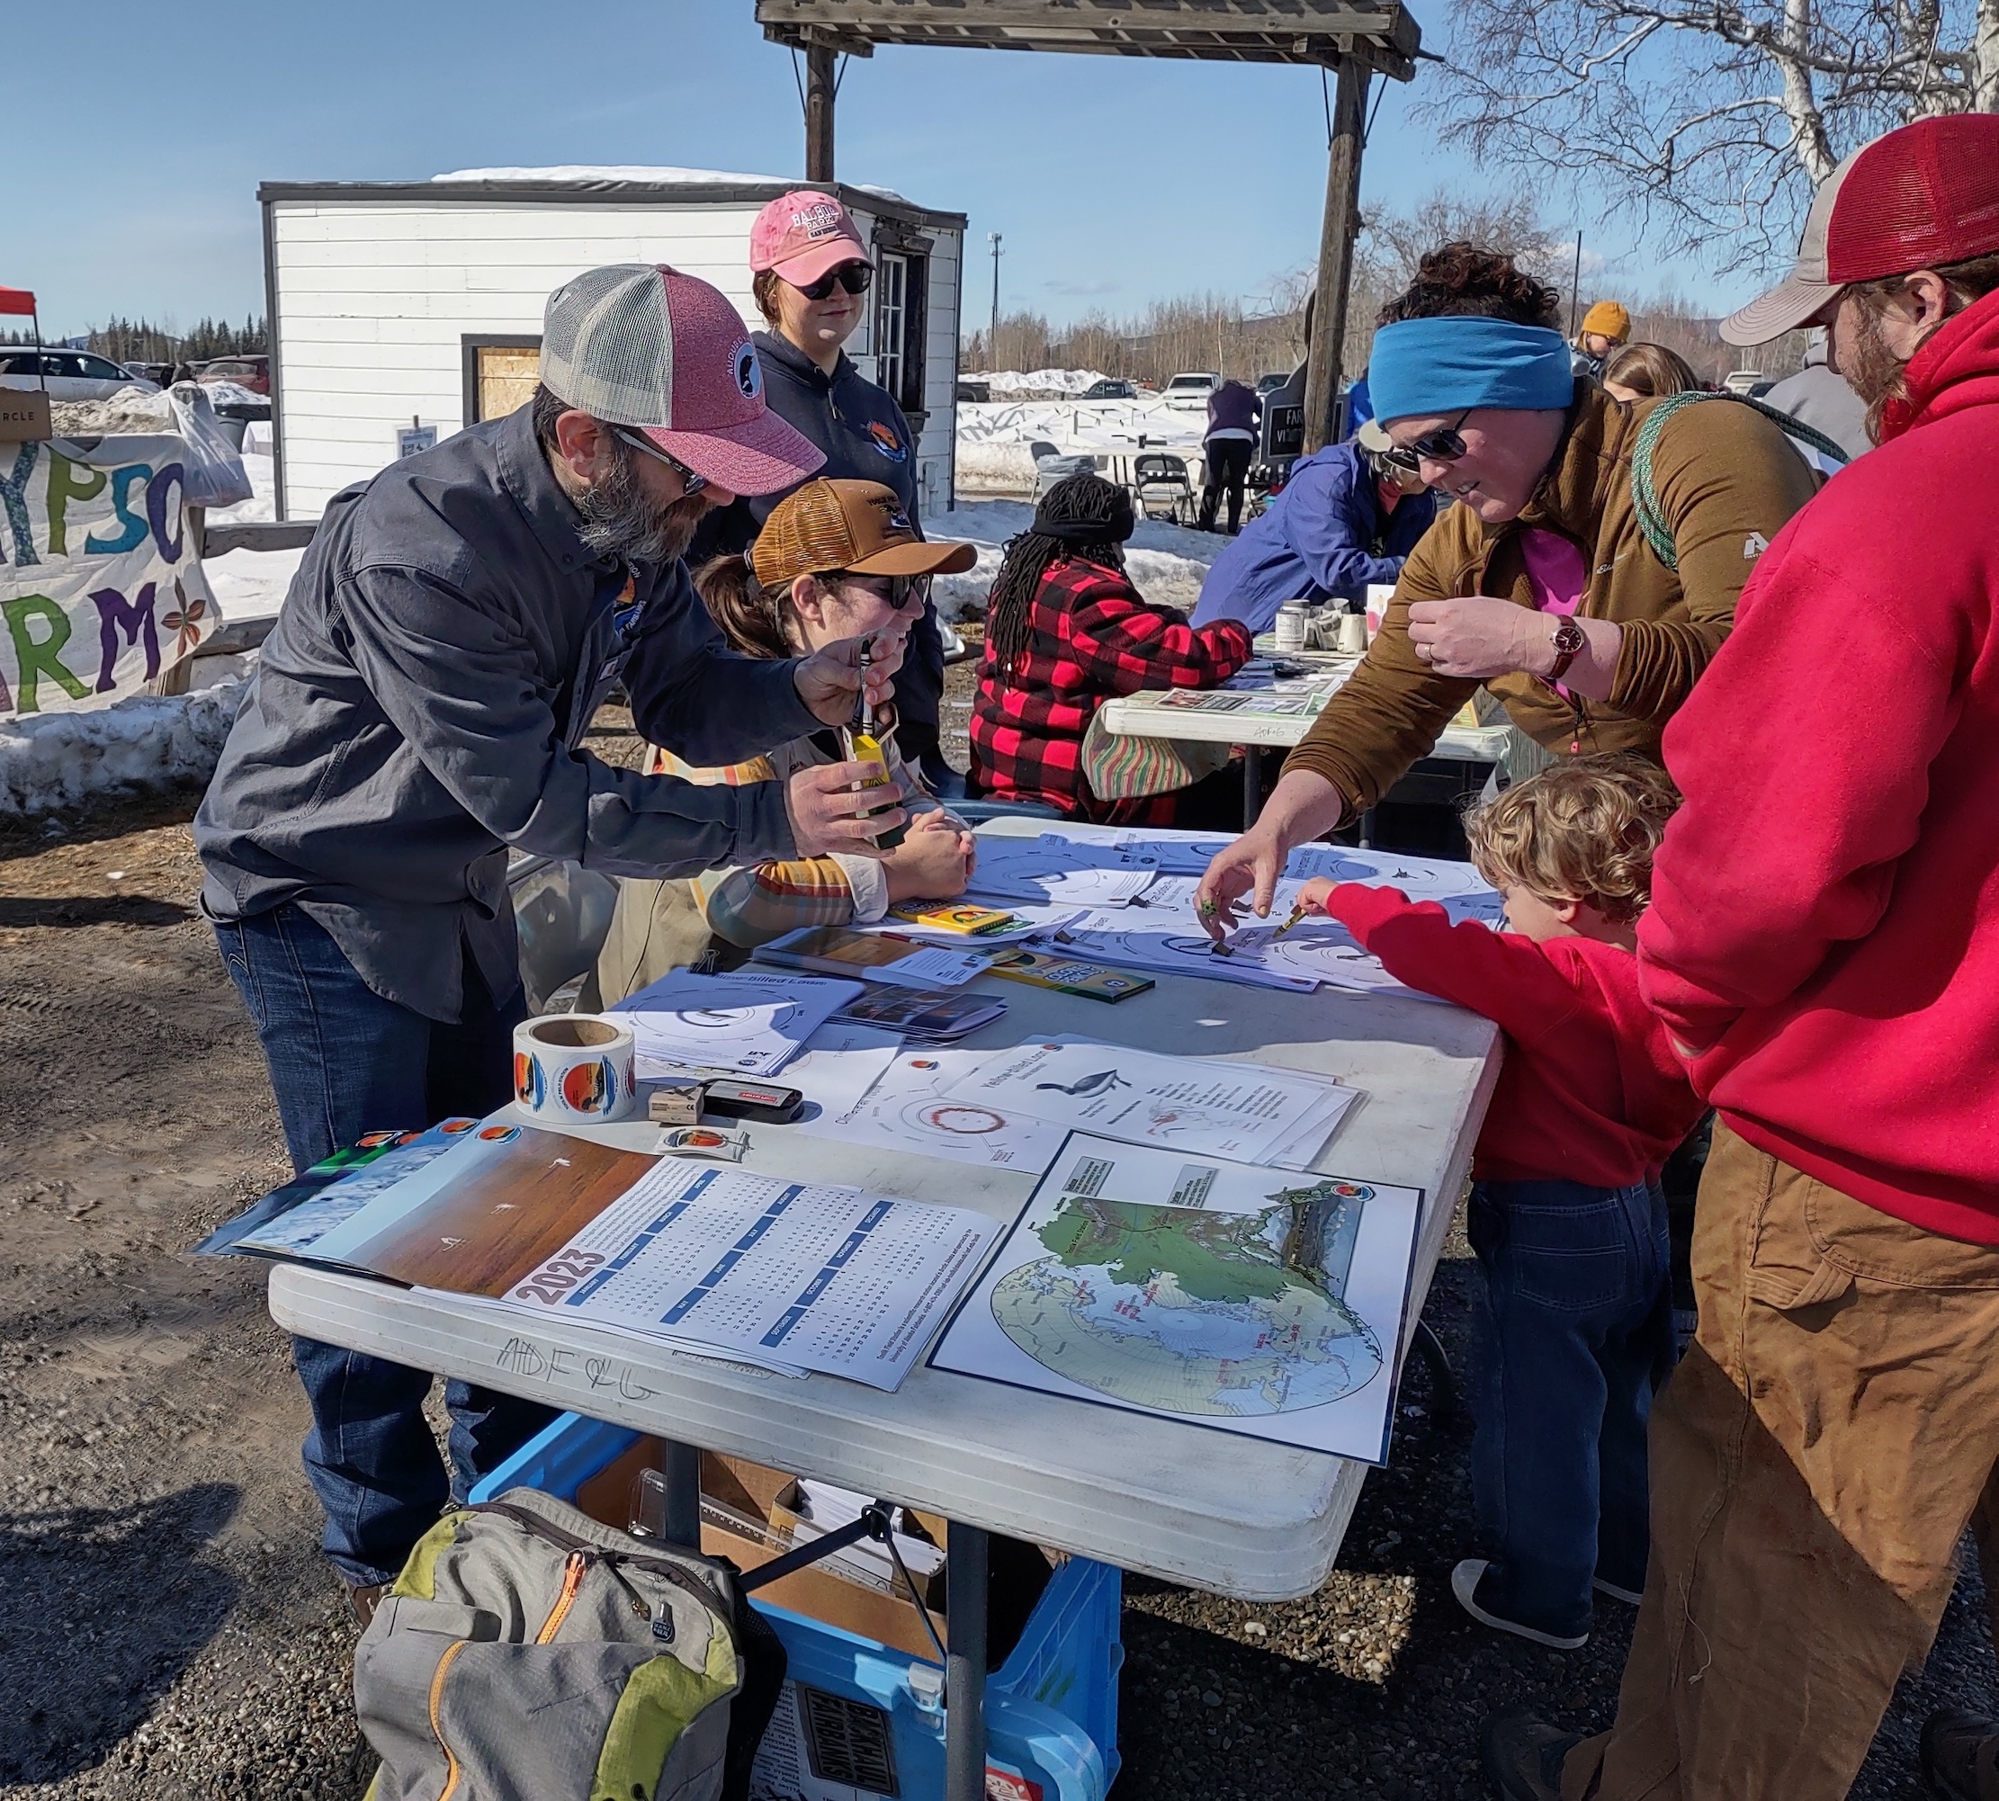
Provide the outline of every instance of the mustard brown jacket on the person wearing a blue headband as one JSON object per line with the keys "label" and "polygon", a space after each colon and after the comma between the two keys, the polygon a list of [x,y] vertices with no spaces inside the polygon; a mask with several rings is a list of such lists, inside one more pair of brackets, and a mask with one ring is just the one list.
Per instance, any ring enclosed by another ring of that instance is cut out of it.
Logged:
{"label": "mustard brown jacket on the person wearing a blue headband", "polygon": [[[1487,526],[1453,506],[1403,564],[1381,632],[1353,678],[1285,762],[1345,796],[1345,818],[1371,808],[1475,690],[1497,696],[1513,724],[1549,750],[1627,750],[1659,760],[1659,734],[1735,622],[1735,600],[1783,524],[1819,480],[1783,432],[1749,406],[1715,398],[1659,432],[1651,480],[1679,570],[1653,554],[1631,500],[1631,450],[1657,400],[1625,404],[1575,384],[1569,426],[1547,478],[1517,520]],[[1607,702],[1575,702],[1513,672],[1487,682],[1439,676],[1409,644],[1409,606],[1489,594],[1533,610],[1521,528],[1559,532],[1581,548],[1587,620],[1623,626]]]}

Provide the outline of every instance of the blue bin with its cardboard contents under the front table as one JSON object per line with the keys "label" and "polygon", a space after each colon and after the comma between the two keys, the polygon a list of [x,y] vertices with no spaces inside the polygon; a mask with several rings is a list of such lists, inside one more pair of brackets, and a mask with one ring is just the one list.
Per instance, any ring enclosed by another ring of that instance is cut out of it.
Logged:
{"label": "blue bin with its cardboard contents under the front table", "polygon": [[[474,1491],[536,1487],[630,1527],[658,1439],[566,1413]],[[750,1573],[790,1551],[792,1477],[734,1457],[702,1459],[702,1549]],[[936,1531],[942,1521],[926,1519]],[[1119,1573],[1083,1557],[1053,1567],[1031,1545],[996,1543],[988,1617],[988,1793],[1005,1801],[1103,1801],[1117,1777]],[[940,1635],[942,1583],[922,1583]],[[770,1793],[944,1795],[944,1669],[916,1599],[848,1579],[830,1561],[760,1587],[752,1605],[784,1645],[786,1695],[764,1743]],[[764,1793],[752,1787],[752,1797]]]}

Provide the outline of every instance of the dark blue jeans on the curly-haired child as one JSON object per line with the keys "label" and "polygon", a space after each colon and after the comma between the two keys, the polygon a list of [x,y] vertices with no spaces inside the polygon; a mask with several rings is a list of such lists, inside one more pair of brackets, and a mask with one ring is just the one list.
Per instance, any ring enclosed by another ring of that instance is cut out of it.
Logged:
{"label": "dark blue jeans on the curly-haired child", "polygon": [[1645,1421],[1673,1361],[1665,1191],[1481,1181],[1469,1227],[1477,1599],[1571,1637],[1595,1577],[1645,1587]]}

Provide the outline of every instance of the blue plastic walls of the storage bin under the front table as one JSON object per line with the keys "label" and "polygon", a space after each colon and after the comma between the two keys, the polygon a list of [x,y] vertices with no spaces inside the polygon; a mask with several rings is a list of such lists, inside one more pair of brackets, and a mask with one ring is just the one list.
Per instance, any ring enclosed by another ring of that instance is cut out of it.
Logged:
{"label": "blue plastic walls of the storage bin under the front table", "polygon": [[[574,1499],[640,1433],[564,1413],[476,1489],[512,1487]],[[1007,1801],[1103,1801],[1117,1775],[1117,1669],[1123,1579],[1071,1557],[1049,1577],[1019,1643],[986,1679],[990,1791]],[[942,1671],[934,1661],[752,1597],[790,1657],[790,1695],[822,1755],[848,1759],[828,1777],[850,1791],[938,1801],[944,1795]],[[858,1703],[858,1705],[856,1705]],[[884,1739],[886,1719],[886,1739]],[[1011,1783],[1009,1783],[1011,1779]],[[840,1789],[836,1789],[840,1793]]]}

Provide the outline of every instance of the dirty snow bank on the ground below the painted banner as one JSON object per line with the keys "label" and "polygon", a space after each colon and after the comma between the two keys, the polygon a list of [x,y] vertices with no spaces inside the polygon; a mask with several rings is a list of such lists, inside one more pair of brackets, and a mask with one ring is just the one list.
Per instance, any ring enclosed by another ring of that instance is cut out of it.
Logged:
{"label": "dirty snow bank on the ground below the painted banner", "polygon": [[242,680],[230,678],[196,694],[0,720],[0,814],[52,814],[102,794],[206,782],[242,696]]}

